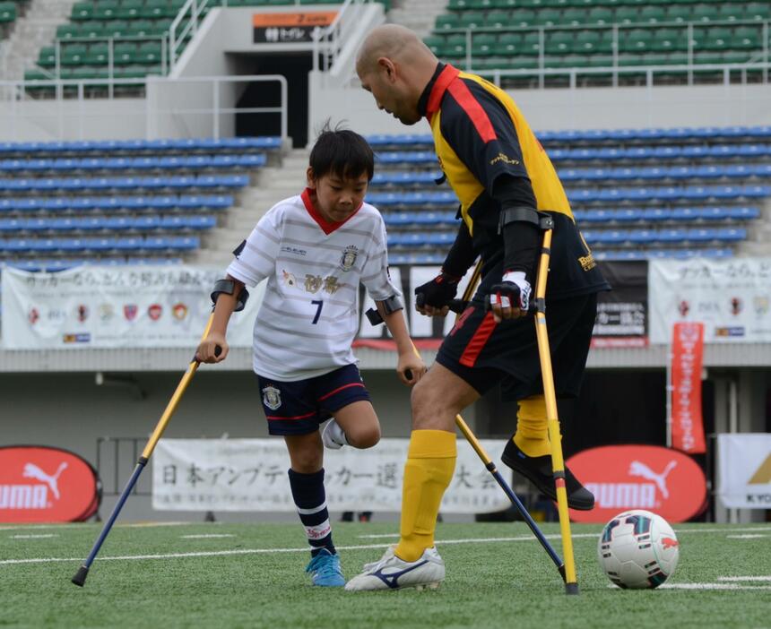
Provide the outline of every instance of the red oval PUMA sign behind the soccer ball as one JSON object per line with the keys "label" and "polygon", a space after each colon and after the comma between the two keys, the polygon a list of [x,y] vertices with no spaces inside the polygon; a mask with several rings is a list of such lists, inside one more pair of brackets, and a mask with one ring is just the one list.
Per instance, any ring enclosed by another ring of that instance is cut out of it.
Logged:
{"label": "red oval PUMA sign behind the soccer ball", "polygon": [[706,507],[704,472],[677,450],[604,445],[578,452],[567,465],[594,495],[592,511],[570,510],[578,522],[605,522],[628,509],[645,509],[681,522]]}

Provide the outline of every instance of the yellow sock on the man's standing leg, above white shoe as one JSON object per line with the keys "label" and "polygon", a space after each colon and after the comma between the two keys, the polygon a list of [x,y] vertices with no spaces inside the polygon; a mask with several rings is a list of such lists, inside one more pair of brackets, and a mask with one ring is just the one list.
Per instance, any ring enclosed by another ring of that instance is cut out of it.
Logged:
{"label": "yellow sock on the man's standing leg, above white shoe", "polygon": [[413,430],[402,490],[402,539],[396,555],[417,561],[434,546],[439,504],[453,479],[457,444],[455,433],[445,430]]}

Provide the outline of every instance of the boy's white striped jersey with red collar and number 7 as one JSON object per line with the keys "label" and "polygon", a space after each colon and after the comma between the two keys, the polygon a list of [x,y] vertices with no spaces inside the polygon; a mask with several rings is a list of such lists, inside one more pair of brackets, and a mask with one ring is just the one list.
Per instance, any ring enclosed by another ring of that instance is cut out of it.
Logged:
{"label": "boy's white striped jersey with red collar and number 7", "polygon": [[237,250],[228,273],[249,287],[268,279],[255,322],[259,375],[294,381],[356,362],[359,285],[373,299],[399,295],[388,276],[385,224],[363,203],[327,223],[303,194],[276,203]]}

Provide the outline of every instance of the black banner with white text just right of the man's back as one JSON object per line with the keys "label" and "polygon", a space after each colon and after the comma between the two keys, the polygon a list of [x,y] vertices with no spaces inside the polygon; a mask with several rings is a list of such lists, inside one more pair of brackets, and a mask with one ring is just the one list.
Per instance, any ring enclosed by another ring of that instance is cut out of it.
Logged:
{"label": "black banner with white text just right of the man's back", "polygon": [[648,343],[648,263],[598,263],[610,292],[597,299],[592,347],[645,347]]}

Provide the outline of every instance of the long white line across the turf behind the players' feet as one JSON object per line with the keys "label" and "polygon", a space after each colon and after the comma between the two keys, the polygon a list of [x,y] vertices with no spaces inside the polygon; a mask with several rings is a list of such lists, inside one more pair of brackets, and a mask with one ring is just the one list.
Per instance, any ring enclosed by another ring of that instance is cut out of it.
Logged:
{"label": "long white line across the turf behind the players' feet", "polygon": [[[758,529],[753,529],[758,530]],[[768,527],[759,530],[768,530]],[[680,532],[725,532],[724,529],[698,530],[685,529]],[[559,535],[547,535],[546,538],[559,539]],[[574,538],[596,538],[595,533],[581,533]],[[466,538],[466,539],[437,539],[438,544],[489,544],[491,542],[515,542],[533,541],[533,535],[520,535],[515,538]],[[389,544],[360,544],[357,546],[338,546],[338,550],[369,550],[373,548],[385,548]],[[189,553],[163,553],[160,555],[122,555],[102,556],[100,561],[135,561],[143,559],[184,559],[186,557],[213,557],[213,556],[240,556],[240,555],[265,555],[271,553],[307,553],[308,547],[301,548],[235,548],[232,550],[209,550]],[[81,557],[34,557],[29,559],[3,559],[0,565],[14,564],[54,564],[57,562],[78,562]]]}

